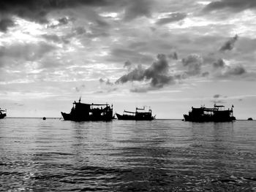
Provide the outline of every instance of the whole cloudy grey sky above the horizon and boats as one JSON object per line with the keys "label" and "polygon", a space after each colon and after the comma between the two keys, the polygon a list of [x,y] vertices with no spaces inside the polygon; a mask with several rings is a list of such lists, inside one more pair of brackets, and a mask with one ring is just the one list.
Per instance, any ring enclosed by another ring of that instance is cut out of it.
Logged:
{"label": "whole cloudy grey sky above the horizon and boats", "polygon": [[61,117],[73,101],[256,119],[255,0],[1,0],[0,107]]}

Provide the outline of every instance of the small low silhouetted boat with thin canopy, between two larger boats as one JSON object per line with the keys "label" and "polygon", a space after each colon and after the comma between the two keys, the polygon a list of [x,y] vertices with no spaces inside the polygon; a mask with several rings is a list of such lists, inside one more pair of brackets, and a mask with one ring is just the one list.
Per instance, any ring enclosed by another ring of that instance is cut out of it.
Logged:
{"label": "small low silhouetted boat with thin canopy, between two larger boats", "polygon": [[152,116],[151,109],[149,109],[148,112],[145,112],[145,107],[143,108],[136,107],[135,112],[129,112],[124,110],[123,115],[116,113],[116,117],[118,118],[118,120],[154,120],[156,115],[154,115],[154,117]]}

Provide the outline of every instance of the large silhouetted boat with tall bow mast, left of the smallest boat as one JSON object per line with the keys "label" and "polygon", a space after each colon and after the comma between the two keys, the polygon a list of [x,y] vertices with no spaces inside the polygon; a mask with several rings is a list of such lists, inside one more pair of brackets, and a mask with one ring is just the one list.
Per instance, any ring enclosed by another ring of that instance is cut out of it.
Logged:
{"label": "large silhouetted boat with tall bow mast, left of the smallest boat", "polygon": [[84,104],[74,101],[69,113],[61,112],[64,120],[87,121],[87,120],[113,120],[113,105],[109,104]]}

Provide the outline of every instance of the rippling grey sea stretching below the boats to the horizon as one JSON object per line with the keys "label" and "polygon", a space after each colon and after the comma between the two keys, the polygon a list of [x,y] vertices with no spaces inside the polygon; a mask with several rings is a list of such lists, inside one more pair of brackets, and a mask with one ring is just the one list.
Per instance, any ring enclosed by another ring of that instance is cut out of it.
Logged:
{"label": "rippling grey sea stretching below the boats to the horizon", "polygon": [[4,118],[0,191],[256,191],[256,121]]}

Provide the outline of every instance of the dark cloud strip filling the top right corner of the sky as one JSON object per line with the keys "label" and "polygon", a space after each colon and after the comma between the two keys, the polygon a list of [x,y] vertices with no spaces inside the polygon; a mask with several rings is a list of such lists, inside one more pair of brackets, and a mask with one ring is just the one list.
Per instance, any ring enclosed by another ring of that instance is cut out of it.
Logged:
{"label": "dark cloud strip filling the top right corner of the sky", "polygon": [[206,5],[203,12],[212,12],[222,9],[228,9],[230,12],[241,12],[245,9],[255,9],[255,0],[220,0],[211,1],[210,4]]}

